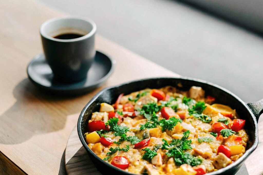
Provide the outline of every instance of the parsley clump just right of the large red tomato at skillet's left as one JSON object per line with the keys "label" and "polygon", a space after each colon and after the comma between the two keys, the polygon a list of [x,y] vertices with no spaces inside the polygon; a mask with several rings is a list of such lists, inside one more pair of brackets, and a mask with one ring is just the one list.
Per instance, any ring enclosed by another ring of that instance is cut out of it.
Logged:
{"label": "parsley clump just right of the large red tomato at skillet's left", "polygon": [[107,123],[105,123],[105,125],[110,126],[110,131],[114,131],[115,136],[121,136],[123,134],[126,134],[126,132],[130,130],[127,126],[118,125],[118,121],[118,118],[113,117],[109,119]]}

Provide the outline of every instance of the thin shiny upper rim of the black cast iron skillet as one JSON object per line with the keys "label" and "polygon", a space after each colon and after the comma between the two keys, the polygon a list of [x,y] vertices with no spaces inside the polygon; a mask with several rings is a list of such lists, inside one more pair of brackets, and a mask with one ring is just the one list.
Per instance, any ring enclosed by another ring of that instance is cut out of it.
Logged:
{"label": "thin shiny upper rim of the black cast iron skillet", "polygon": [[[232,93],[231,91],[217,85],[217,84],[214,84],[214,83],[211,83],[211,82],[208,82],[208,81],[204,81],[204,80],[201,80],[201,79],[198,79],[198,78],[191,78],[191,77],[184,77],[184,76],[180,76],[180,77],[152,77],[152,78],[143,78],[143,79],[137,79],[137,80],[133,80],[133,81],[129,81],[129,82],[125,82],[125,83],[121,83],[119,85],[115,85],[115,86],[111,86],[111,87],[106,87],[104,89],[102,89],[101,91],[99,91],[86,105],[85,107],[82,109],[80,115],[79,115],[79,118],[78,118],[78,124],[77,124],[77,130],[78,130],[78,136],[79,136],[79,139],[83,145],[83,147],[85,148],[86,151],[88,151],[89,154],[93,155],[98,161],[102,162],[104,165],[106,165],[107,167],[109,168],[112,168],[114,169],[115,171],[118,171],[119,173],[123,173],[123,174],[129,174],[129,175],[138,175],[138,174],[135,174],[135,173],[130,173],[130,172],[127,172],[127,171],[124,171],[120,168],[117,168],[113,165],[111,165],[110,163],[107,163],[105,161],[103,161],[101,158],[98,157],[98,155],[96,155],[87,145],[87,143],[85,142],[85,139],[82,135],[82,131],[81,131],[81,121],[83,119],[83,116],[85,114],[85,112],[87,111],[88,107],[90,106],[90,104],[92,104],[102,93],[104,93],[105,91],[108,91],[109,89],[114,89],[114,88],[118,88],[120,86],[123,86],[125,84],[129,84],[129,83],[135,83],[135,82],[139,82],[139,81],[147,81],[147,80],[151,80],[151,79],[182,79],[182,80],[189,80],[189,81],[195,81],[195,82],[200,82],[200,83],[204,83],[204,84],[208,84],[210,86],[213,86],[215,88],[218,88],[218,89],[221,89],[222,91],[230,94],[232,97],[234,97],[235,99],[237,99],[246,109],[247,111],[250,113],[253,121],[254,121],[254,125],[255,125],[255,141],[253,143],[253,145],[248,149],[246,150],[246,152],[239,158],[237,159],[234,163],[231,163],[230,165],[224,167],[224,168],[221,168],[217,171],[214,171],[214,172],[210,172],[210,173],[206,173],[208,175],[217,175],[217,174],[221,174],[221,173],[225,173],[226,171],[232,169],[232,168],[235,168],[236,166],[238,166],[241,162],[244,162],[247,157],[256,149],[257,145],[258,145],[258,125],[257,125],[257,120],[256,120],[256,117],[255,115],[252,113],[251,109],[247,106],[247,104],[241,100],[238,96],[236,96],[234,93]],[[242,163],[243,164],[243,163]],[[240,167],[239,167],[240,169]],[[238,170],[237,170],[238,171]]]}

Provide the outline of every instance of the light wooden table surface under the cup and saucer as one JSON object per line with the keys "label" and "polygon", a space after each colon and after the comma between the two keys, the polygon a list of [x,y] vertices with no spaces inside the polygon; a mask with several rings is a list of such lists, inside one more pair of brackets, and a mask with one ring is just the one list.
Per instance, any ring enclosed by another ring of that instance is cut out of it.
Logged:
{"label": "light wooden table surface under the cup and saucer", "polygon": [[[79,97],[39,91],[26,75],[27,64],[42,52],[39,26],[65,14],[31,0],[0,2],[0,174],[65,174],[63,152],[69,134],[84,105],[99,90],[139,78],[178,76],[97,35],[97,50],[117,61],[102,87]],[[262,134],[263,128],[260,142]],[[262,171],[261,150],[246,161],[250,174]]]}

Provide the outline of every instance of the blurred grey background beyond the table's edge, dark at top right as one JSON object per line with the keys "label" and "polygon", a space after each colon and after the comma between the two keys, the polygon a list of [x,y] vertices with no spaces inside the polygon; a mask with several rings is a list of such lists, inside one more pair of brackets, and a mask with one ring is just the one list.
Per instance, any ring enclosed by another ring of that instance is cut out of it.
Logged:
{"label": "blurred grey background beyond the table's edge, dark at top right", "polygon": [[180,75],[219,84],[245,102],[263,98],[263,1],[188,0],[201,8],[170,0],[38,1],[93,19],[98,34]]}

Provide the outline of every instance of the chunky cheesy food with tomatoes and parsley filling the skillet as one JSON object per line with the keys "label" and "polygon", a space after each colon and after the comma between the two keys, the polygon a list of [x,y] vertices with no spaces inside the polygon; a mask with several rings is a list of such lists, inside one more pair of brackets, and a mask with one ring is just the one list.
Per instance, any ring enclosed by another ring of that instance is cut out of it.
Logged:
{"label": "chunky cheesy food with tomatoes and parsley filling the skillet", "polygon": [[242,156],[249,137],[245,120],[215,100],[195,86],[120,94],[92,114],[86,141],[104,161],[131,173],[213,172]]}

